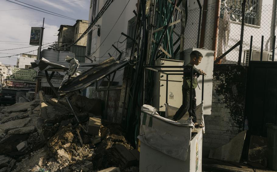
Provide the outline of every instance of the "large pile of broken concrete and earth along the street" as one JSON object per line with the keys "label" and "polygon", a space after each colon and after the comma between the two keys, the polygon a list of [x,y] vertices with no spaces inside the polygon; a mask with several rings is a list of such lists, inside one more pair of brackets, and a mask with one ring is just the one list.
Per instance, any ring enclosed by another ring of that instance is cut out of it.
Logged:
{"label": "large pile of broken concrete and earth along the street", "polygon": [[78,122],[66,98],[39,95],[0,107],[0,172],[138,171],[138,151],[101,119],[100,100],[68,95]]}

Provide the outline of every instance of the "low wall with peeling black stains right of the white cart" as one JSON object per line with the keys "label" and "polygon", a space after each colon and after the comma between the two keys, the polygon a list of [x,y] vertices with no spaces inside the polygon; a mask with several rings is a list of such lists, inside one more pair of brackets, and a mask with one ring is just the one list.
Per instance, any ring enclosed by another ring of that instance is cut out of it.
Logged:
{"label": "low wall with peeling black stains right of the white cart", "polygon": [[212,113],[205,115],[203,149],[228,143],[243,131],[247,68],[238,65],[215,65],[213,71]]}

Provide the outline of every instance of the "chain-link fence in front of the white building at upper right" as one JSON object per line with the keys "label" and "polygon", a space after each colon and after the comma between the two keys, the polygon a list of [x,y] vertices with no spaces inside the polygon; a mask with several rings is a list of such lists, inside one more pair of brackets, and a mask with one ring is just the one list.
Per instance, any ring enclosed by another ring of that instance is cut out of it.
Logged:
{"label": "chain-link fence in front of the white building at upper right", "polygon": [[[219,25],[217,28],[217,42],[215,42],[214,29],[216,4],[210,4],[206,10],[202,11],[201,29],[204,30],[202,35],[202,45],[204,48],[212,50],[216,43],[216,57],[219,58],[226,51],[232,48],[240,41],[241,21],[242,21],[242,1],[221,1]],[[204,9],[204,8],[203,8]],[[200,8],[188,10],[188,21],[184,31],[184,49],[196,47],[198,38],[198,21]],[[205,18],[203,20],[203,17]],[[273,5],[261,5],[258,1],[247,1],[245,8],[243,33],[243,48],[241,64],[248,65],[248,61],[260,60],[261,39],[264,36],[263,43],[263,61],[272,59],[272,40],[274,32],[274,9]],[[204,28],[203,28],[204,27]],[[181,32],[179,32],[181,33]],[[252,41],[252,55],[249,57],[250,40]],[[201,36],[200,36],[201,37]],[[200,42],[201,44],[201,42]],[[202,48],[202,47],[200,47]],[[239,46],[235,47],[220,61],[220,64],[237,64],[239,59]]]}

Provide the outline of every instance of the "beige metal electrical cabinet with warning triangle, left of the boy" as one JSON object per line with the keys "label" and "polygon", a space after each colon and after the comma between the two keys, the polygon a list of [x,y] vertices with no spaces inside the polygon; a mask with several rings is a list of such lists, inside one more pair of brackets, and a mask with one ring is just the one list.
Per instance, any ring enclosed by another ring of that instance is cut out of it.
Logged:
{"label": "beige metal electrical cabinet with warning triangle, left of the boy", "polygon": [[[156,66],[183,66],[184,61],[161,58],[156,60],[155,65]],[[164,69],[181,70],[181,71],[183,70],[183,68],[164,68]],[[173,73],[173,72],[168,72],[168,73]],[[167,76],[166,74],[161,74],[159,72],[155,72],[154,76],[155,77],[154,77],[153,106],[157,108],[158,111],[165,111],[164,104],[166,103]],[[168,75],[167,102],[171,106],[175,106],[179,108],[182,105],[182,99],[183,99],[182,85],[183,85],[182,75]]]}

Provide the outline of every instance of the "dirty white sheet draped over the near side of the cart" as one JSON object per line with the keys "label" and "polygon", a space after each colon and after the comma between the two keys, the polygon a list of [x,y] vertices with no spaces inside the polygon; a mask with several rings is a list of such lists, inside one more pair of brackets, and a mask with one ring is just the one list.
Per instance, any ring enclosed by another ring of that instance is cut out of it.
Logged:
{"label": "dirty white sheet draped over the near side of the cart", "polygon": [[[191,123],[180,123],[156,115],[149,105],[142,106],[138,139],[171,157],[185,161],[191,139]],[[146,111],[144,111],[146,110]]]}

